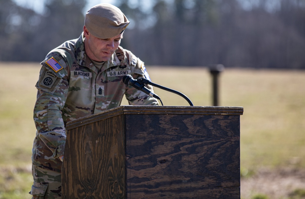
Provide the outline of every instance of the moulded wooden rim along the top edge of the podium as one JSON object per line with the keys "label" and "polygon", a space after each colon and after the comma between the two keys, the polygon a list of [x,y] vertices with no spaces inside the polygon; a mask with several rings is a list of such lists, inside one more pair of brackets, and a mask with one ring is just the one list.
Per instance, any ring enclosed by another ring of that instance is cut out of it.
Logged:
{"label": "moulded wooden rim along the top edge of the podium", "polygon": [[[176,115],[242,115],[243,107],[235,106],[134,106],[122,105],[85,116],[66,124],[66,130],[121,114],[176,114]],[[78,123],[78,124],[77,124]]]}

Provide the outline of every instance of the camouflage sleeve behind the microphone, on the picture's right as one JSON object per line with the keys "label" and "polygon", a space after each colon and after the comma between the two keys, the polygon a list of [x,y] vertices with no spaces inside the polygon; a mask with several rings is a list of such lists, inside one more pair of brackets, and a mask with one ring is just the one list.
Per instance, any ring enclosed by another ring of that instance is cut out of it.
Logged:
{"label": "camouflage sleeve behind the microphone, on the picture's right", "polygon": [[[146,71],[144,62],[141,61],[139,58],[136,59],[137,59],[137,63],[135,65],[135,68],[133,68],[133,70],[131,71],[131,75],[133,76],[133,78],[134,79],[145,78],[151,81],[148,72]],[[153,92],[153,87],[151,85],[146,85],[146,87]],[[152,106],[159,105],[157,99],[131,86],[127,86],[125,96],[128,100],[129,105],[152,105]]]}

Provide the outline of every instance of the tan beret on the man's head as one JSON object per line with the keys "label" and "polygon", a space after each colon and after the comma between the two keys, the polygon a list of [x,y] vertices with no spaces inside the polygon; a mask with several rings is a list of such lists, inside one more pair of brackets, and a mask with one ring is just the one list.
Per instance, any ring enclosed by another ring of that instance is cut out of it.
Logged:
{"label": "tan beret on the man's head", "polygon": [[100,39],[119,35],[129,24],[122,11],[109,3],[93,6],[85,15],[85,26],[88,31]]}

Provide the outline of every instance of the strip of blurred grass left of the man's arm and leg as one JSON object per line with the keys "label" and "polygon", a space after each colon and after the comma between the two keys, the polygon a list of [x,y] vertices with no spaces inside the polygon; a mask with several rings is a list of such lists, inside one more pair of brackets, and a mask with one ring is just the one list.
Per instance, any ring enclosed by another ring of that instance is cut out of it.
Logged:
{"label": "strip of blurred grass left of the man's arm and leg", "polygon": [[0,63],[0,199],[31,198],[38,63]]}

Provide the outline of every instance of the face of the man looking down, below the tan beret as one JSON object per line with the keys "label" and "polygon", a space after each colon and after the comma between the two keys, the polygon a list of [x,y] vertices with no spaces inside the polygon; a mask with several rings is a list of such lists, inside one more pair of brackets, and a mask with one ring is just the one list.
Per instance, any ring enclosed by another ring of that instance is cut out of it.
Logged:
{"label": "face of the man looking down, below the tan beret", "polygon": [[100,39],[93,36],[84,27],[85,51],[88,57],[94,61],[108,61],[114,51],[117,50],[123,38],[123,33],[109,39]]}

